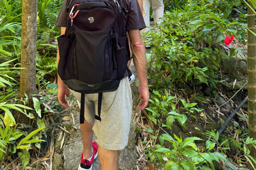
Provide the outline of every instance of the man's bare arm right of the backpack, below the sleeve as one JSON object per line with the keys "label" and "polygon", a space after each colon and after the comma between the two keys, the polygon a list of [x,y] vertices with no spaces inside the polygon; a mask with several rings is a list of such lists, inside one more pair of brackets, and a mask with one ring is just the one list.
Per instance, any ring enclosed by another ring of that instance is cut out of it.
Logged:
{"label": "man's bare arm right of the backpack, below the sleeve", "polygon": [[131,39],[131,48],[133,54],[133,63],[139,78],[139,93],[142,99],[138,109],[143,109],[148,105],[149,92],[147,83],[147,60],[146,50],[143,40],[140,36],[140,30],[129,30]]}

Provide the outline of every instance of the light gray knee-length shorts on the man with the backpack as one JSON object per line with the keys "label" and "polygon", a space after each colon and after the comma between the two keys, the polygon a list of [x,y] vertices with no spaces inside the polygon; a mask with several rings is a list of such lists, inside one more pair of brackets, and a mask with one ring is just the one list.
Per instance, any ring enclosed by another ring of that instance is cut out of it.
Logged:
{"label": "light gray knee-length shorts on the man with the backpack", "polygon": [[[70,91],[76,97],[80,107],[81,94]],[[96,120],[93,126],[100,147],[121,150],[127,146],[132,115],[132,96],[128,77],[121,80],[116,91],[103,93],[101,122]],[[98,115],[98,94],[85,94],[84,114],[87,122],[94,121],[95,114]]]}

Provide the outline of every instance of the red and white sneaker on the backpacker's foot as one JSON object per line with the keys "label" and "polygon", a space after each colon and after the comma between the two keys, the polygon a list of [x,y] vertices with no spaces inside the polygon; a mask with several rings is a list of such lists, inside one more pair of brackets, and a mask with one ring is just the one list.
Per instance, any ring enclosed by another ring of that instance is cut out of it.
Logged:
{"label": "red and white sneaker on the backpacker's foot", "polygon": [[82,156],[81,156],[81,163],[78,167],[78,170],[92,170],[92,163],[93,163],[93,160],[95,158],[97,158],[98,156],[98,143],[97,142],[92,142],[92,147],[93,147],[93,156],[92,156],[92,160],[89,161],[87,159],[84,159],[84,152],[82,153]]}

